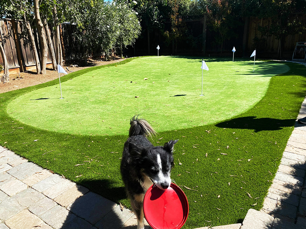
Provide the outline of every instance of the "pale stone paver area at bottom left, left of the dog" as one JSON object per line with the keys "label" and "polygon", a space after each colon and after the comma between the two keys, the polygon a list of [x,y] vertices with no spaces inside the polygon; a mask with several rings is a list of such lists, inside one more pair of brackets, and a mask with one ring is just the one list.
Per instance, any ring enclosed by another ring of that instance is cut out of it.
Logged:
{"label": "pale stone paver area at bottom left, left of the dog", "polygon": [[0,229],[119,229],[136,224],[129,209],[0,146]]}

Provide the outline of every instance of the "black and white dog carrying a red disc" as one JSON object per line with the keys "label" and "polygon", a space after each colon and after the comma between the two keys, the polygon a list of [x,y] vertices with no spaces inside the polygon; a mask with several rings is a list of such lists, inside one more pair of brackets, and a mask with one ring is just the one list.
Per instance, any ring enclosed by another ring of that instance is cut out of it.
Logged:
{"label": "black and white dog carrying a red disc", "polygon": [[146,120],[134,116],[130,125],[120,170],[132,210],[137,217],[137,229],[143,229],[144,194],[153,182],[162,190],[170,186],[170,171],[174,165],[173,147],[178,140],[170,140],[163,147],[154,147],[146,136],[155,135],[156,132]]}

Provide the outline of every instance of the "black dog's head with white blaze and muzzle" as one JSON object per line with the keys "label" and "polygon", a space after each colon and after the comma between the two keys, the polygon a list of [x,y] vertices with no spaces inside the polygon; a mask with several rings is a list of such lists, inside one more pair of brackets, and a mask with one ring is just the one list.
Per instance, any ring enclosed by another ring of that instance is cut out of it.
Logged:
{"label": "black dog's head with white blaze and muzzle", "polygon": [[137,164],[144,175],[148,176],[162,190],[170,186],[170,172],[174,165],[173,147],[178,140],[171,140],[163,147],[137,147],[129,144],[131,155],[137,158]]}

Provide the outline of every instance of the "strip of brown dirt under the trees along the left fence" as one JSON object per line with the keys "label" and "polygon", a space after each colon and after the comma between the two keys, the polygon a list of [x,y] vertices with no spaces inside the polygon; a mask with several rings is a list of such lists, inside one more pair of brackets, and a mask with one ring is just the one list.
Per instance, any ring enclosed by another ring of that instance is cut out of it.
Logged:
{"label": "strip of brown dirt under the trees along the left fence", "polygon": [[[88,59],[88,66],[87,67],[70,67],[70,65],[67,65],[67,66],[64,65],[63,68],[69,74],[71,72],[79,71],[79,70],[82,70],[84,68],[98,66],[98,65],[106,65],[106,64],[117,63],[117,62],[120,62],[121,60],[122,59],[120,59],[120,58],[116,58],[115,60],[110,60],[110,61],[103,61],[101,59],[98,59],[98,60]],[[66,67],[70,71],[68,71]],[[47,73],[45,75],[41,75],[41,74],[37,75],[36,72],[25,71],[25,72],[20,73],[20,77],[21,78],[19,78],[18,73],[9,74],[9,82],[8,83],[2,83],[2,82],[0,83],[0,93],[13,91],[13,90],[17,90],[17,89],[21,89],[21,88],[25,88],[25,87],[29,87],[29,86],[33,86],[33,85],[37,85],[37,84],[41,84],[41,83],[44,83],[44,82],[54,80],[54,79],[58,78],[58,72],[53,71],[50,68],[47,68]]]}

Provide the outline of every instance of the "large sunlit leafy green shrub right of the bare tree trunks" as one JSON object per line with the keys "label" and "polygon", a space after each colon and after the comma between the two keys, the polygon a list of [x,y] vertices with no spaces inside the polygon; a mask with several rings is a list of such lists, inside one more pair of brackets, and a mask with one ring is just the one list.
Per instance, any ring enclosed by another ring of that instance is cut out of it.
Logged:
{"label": "large sunlit leafy green shrub right of the bare tree trunks", "polygon": [[77,26],[75,35],[85,55],[103,51],[108,56],[114,48],[132,45],[140,34],[140,23],[128,2],[80,0],[68,6],[69,19]]}

